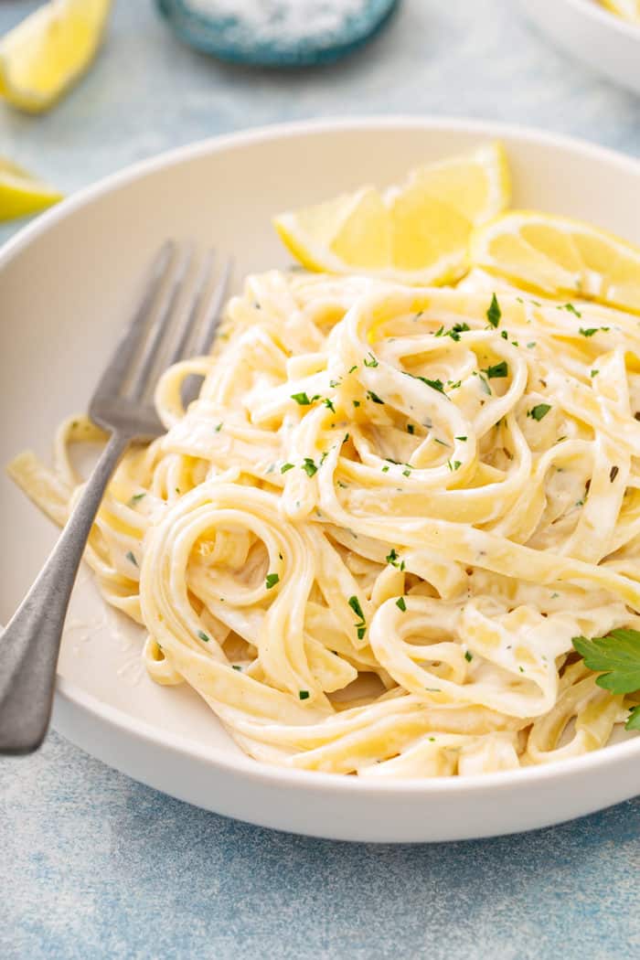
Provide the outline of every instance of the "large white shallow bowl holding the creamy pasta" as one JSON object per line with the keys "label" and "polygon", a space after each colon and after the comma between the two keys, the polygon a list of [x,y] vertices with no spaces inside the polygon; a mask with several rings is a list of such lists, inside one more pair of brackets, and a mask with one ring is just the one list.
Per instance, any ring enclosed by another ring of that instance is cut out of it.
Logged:
{"label": "large white shallow bowl holding the creamy pasta", "polygon": [[[25,444],[46,456],[58,421],[83,409],[159,239],[218,241],[236,255],[238,276],[284,265],[274,211],[363,181],[397,180],[420,161],[492,137],[510,155],[514,204],[592,220],[640,243],[640,165],[557,136],[367,118],[182,148],[84,190],[0,252],[0,461]],[[0,528],[6,620],[56,531],[4,476]],[[241,754],[195,692],[150,681],[139,646],[82,571],[59,660],[55,726],[136,780],[251,823],[344,840],[450,840],[558,823],[640,792],[640,737],[550,766],[450,780],[370,783],[261,765]]]}

